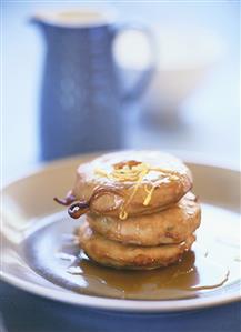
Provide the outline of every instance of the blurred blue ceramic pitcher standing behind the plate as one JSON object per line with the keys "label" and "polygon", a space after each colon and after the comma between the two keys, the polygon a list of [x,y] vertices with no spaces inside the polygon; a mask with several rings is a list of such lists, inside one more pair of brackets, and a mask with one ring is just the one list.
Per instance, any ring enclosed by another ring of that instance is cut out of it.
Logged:
{"label": "blurred blue ceramic pitcher standing behind the plate", "polygon": [[[41,159],[122,148],[123,103],[140,95],[153,72],[150,66],[131,91],[121,87],[112,46],[120,31],[106,12],[82,9],[34,17],[46,39],[40,105]],[[128,50],[127,50],[128,52]]]}

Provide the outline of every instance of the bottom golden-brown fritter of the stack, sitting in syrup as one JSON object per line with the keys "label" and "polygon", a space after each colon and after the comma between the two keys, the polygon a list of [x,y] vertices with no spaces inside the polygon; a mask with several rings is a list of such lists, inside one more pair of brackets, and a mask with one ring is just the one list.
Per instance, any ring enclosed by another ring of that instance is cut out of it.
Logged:
{"label": "bottom golden-brown fritter of the stack, sitting in syrup", "polygon": [[195,235],[177,244],[157,247],[124,245],[96,233],[87,221],[78,230],[80,247],[93,261],[116,269],[150,270],[177,262],[189,250]]}

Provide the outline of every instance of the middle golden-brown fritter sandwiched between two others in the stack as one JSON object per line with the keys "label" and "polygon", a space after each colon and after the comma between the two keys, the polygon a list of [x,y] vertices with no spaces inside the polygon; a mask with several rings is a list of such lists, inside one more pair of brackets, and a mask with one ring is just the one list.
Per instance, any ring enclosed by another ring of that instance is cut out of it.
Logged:
{"label": "middle golden-brown fritter sandwiched between two others in the stack", "polygon": [[201,209],[194,194],[187,193],[177,204],[154,214],[120,220],[88,214],[91,229],[123,244],[159,245],[180,243],[200,225]]}

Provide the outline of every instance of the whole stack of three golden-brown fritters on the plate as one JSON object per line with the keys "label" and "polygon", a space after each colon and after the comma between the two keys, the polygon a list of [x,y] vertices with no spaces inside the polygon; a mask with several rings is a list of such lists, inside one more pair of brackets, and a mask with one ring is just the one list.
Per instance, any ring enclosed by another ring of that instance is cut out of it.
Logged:
{"label": "whole stack of three golden-brown fritters on the plate", "polygon": [[78,169],[69,197],[78,235],[93,261],[123,269],[155,269],[178,261],[195,240],[200,204],[190,170],[157,151],[102,155]]}

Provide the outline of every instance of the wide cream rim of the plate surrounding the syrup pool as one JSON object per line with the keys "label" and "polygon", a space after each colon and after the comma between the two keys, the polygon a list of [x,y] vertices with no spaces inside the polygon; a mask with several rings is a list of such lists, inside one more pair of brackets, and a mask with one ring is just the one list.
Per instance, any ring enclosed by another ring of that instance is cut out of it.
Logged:
{"label": "wide cream rim of the plate surrounding the syrup pool", "polygon": [[[210,252],[212,252],[212,241],[227,245],[227,255],[225,258],[220,255],[220,263],[225,260],[225,263],[230,264],[231,278],[224,285],[214,291],[200,292],[199,296],[190,299],[122,300],[111,299],[108,294],[97,296],[77,293],[60,286],[61,283],[50,282],[48,266],[46,268],[47,278],[44,273],[38,273],[39,263],[36,262],[34,269],[32,268],[37,250],[34,239],[36,242],[39,241],[41,238],[39,230],[49,223],[51,215],[62,218],[63,214],[60,211],[64,210],[56,204],[52,198],[66,194],[73,183],[77,165],[90,158],[90,155],[84,155],[53,162],[10,183],[2,190],[1,276],[4,281],[28,292],[57,301],[118,311],[183,311],[240,300],[240,172],[190,160],[185,162],[193,172],[194,191],[203,202],[203,225],[198,232],[198,242],[205,239],[205,247],[209,247]],[[67,224],[64,223],[66,228]],[[26,239],[31,234],[33,234],[31,238],[33,240],[30,244],[33,245],[26,249],[22,243],[28,244]],[[39,256],[41,256],[41,245],[44,254],[48,254],[46,248],[52,245],[51,235],[44,241],[38,244]],[[49,252],[49,255],[51,254]],[[51,265],[49,269],[54,270],[54,266]],[[68,282],[71,282],[71,274]]]}

